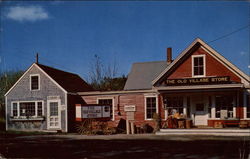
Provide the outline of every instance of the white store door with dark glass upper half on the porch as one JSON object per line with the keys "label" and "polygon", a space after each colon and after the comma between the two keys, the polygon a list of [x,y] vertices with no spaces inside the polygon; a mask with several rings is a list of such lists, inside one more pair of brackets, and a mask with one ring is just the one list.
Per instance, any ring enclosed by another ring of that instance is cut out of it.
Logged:
{"label": "white store door with dark glass upper half on the porch", "polygon": [[195,104],[195,113],[194,113],[194,124],[197,125],[207,125],[207,107],[204,103]]}

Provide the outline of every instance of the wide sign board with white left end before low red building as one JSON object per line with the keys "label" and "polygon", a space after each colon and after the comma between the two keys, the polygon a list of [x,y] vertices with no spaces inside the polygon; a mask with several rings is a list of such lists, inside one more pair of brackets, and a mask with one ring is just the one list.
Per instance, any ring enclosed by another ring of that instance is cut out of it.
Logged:
{"label": "wide sign board with white left end before low red building", "polygon": [[109,118],[109,105],[76,105],[76,118]]}

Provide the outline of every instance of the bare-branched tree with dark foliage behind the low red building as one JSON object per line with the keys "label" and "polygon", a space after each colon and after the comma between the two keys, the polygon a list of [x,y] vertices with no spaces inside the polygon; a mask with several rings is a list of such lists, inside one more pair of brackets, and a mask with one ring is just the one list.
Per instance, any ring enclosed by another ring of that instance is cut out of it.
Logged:
{"label": "bare-branched tree with dark foliage behind the low red building", "polygon": [[126,83],[126,76],[117,77],[116,61],[105,66],[98,55],[94,56],[90,66],[89,78],[91,86],[96,90],[122,90]]}

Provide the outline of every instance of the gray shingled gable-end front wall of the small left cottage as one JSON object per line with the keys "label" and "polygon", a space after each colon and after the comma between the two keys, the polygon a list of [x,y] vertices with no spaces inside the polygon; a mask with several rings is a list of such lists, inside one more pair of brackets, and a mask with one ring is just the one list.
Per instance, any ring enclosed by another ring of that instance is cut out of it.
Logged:
{"label": "gray shingled gable-end front wall of the small left cottage", "polygon": [[[30,91],[30,75],[40,74],[40,90]],[[9,130],[46,130],[47,129],[47,97],[59,96],[61,105],[65,105],[65,93],[53,83],[44,73],[36,66],[33,66],[29,72],[19,81],[19,83],[7,95],[7,123]],[[44,103],[43,121],[10,121],[11,102],[12,101],[36,101],[42,100]],[[66,131],[65,110],[61,111],[61,127],[62,131]]]}

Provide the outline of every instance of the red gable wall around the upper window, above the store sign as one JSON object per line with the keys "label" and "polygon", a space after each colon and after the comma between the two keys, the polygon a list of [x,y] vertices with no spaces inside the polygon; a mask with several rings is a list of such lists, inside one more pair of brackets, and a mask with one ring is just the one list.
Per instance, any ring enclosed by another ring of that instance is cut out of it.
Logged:
{"label": "red gable wall around the upper window, above the store sign", "polygon": [[[201,47],[192,55],[206,55],[206,76],[230,76],[231,81],[241,82],[241,79],[218,62]],[[190,55],[178,68],[168,76],[168,79],[191,78],[192,77],[192,56]]]}

